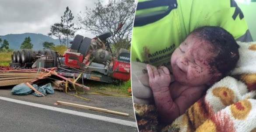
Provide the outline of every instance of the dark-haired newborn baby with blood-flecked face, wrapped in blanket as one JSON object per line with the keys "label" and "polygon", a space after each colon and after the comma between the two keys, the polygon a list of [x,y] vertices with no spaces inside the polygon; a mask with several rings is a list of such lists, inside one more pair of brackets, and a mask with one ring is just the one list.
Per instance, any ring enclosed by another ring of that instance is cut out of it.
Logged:
{"label": "dark-haired newborn baby with blood-flecked face, wrapped in blanket", "polygon": [[166,67],[147,64],[149,85],[160,122],[175,118],[200,99],[207,88],[226,76],[238,61],[238,44],[221,27],[200,27],[172,54],[172,76]]}

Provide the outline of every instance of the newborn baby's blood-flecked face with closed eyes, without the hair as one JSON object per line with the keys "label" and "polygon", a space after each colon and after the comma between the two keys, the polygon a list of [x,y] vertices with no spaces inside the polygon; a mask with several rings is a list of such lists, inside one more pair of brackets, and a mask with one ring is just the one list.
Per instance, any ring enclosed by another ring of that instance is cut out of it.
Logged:
{"label": "newborn baby's blood-flecked face with closed eyes, without the hair", "polygon": [[216,75],[210,73],[208,61],[214,57],[210,44],[189,35],[172,54],[171,64],[175,81],[183,85],[211,85]]}

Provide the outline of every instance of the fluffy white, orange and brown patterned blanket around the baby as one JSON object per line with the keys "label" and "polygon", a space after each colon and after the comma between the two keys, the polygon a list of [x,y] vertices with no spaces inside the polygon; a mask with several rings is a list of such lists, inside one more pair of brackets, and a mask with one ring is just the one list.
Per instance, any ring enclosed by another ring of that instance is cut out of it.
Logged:
{"label": "fluffy white, orange and brown patterned blanket around the baby", "polygon": [[161,126],[154,105],[134,104],[140,132],[256,132],[256,42],[240,45],[231,76],[207,90],[172,124]]}

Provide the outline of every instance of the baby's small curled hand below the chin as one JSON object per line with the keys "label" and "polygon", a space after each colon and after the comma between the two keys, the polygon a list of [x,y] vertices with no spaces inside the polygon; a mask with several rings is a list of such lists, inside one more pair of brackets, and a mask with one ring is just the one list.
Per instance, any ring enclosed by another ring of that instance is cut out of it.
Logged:
{"label": "baby's small curled hand below the chin", "polygon": [[156,68],[147,64],[147,73],[149,77],[149,85],[153,92],[168,90],[171,83],[171,76],[168,68],[161,66]]}

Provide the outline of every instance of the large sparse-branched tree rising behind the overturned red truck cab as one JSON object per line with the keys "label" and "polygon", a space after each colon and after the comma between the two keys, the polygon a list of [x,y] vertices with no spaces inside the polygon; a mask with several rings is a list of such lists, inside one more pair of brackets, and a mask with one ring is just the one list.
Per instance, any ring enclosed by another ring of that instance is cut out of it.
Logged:
{"label": "large sparse-branched tree rising behind the overturned red truck cab", "polygon": [[[133,29],[133,18],[136,10],[134,0],[109,0],[106,5],[98,0],[94,9],[86,7],[84,13],[80,12],[78,20],[81,29],[92,34],[103,34],[111,32],[110,43],[114,45],[116,51],[120,48],[128,48],[130,45]],[[120,46],[121,44],[121,46]]]}

